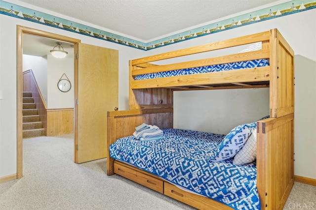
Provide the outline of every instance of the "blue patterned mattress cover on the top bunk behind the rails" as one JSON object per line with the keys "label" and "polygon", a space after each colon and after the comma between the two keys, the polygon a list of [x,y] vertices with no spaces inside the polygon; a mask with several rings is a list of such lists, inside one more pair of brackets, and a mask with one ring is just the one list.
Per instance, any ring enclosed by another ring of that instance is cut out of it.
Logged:
{"label": "blue patterned mattress cover on the top bunk behind the rails", "polygon": [[208,73],[208,72],[215,72],[215,71],[237,70],[237,69],[242,69],[242,68],[254,68],[254,67],[267,66],[267,65],[269,65],[269,61],[267,59],[246,60],[246,61],[224,63],[224,64],[218,64],[218,65],[208,65],[208,66],[200,66],[200,67],[195,67],[195,68],[185,68],[185,69],[172,70],[172,71],[141,74],[141,75],[135,76],[134,80],[200,74],[200,73]]}

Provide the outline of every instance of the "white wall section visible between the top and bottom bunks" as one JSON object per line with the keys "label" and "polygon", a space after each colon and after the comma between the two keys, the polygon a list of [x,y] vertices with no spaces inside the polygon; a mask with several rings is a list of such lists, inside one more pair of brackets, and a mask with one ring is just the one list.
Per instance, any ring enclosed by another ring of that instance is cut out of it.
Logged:
{"label": "white wall section visible between the top and bottom bunks", "polygon": [[[190,103],[188,103],[190,101]],[[228,134],[269,115],[269,89],[174,91],[174,127]]]}

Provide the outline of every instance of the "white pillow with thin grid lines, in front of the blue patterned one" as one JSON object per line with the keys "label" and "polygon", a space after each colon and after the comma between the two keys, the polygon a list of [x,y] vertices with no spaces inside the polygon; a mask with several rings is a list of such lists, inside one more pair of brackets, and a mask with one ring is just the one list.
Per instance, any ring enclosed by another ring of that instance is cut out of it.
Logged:
{"label": "white pillow with thin grid lines, in front of the blue patterned one", "polygon": [[257,132],[254,130],[245,145],[237,152],[233,163],[236,165],[243,165],[252,163],[257,157]]}

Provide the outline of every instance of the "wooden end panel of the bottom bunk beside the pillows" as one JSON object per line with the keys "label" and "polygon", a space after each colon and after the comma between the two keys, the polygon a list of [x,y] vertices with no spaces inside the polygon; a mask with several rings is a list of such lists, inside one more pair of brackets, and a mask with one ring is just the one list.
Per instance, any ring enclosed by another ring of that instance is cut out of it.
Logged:
{"label": "wooden end panel of the bottom bunk beside the pillows", "polygon": [[257,122],[257,188],[263,210],[282,210],[294,184],[294,113]]}

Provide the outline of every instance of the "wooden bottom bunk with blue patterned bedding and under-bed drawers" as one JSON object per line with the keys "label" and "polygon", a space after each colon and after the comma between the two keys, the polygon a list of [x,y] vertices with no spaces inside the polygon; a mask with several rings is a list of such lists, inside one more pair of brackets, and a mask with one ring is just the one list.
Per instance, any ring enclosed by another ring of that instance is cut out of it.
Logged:
{"label": "wooden bottom bunk with blue patterned bedding and under-bed drawers", "polygon": [[[229,157],[229,153],[236,154],[236,148],[220,153],[226,148],[222,143],[229,135],[215,134],[216,138],[212,136],[209,141],[208,133],[166,129],[172,127],[171,122],[163,120],[168,115],[172,116],[172,110],[108,113],[108,175],[121,175],[197,209],[281,209],[284,206],[294,176],[293,114],[241,126],[242,130],[248,130],[236,139],[236,147],[244,145],[245,138],[258,137],[257,164],[241,166],[236,166]],[[131,134],[141,123],[157,124],[163,129],[164,136],[170,136],[172,141],[170,138],[147,142],[135,140]],[[257,125],[258,129],[255,129]],[[119,129],[122,127],[124,129]],[[236,130],[235,133],[240,134]],[[197,141],[183,138],[192,134]],[[153,146],[154,142],[157,144]],[[144,145],[153,147],[145,150]],[[158,153],[159,158],[151,156],[154,153]],[[171,160],[167,153],[180,159]],[[198,169],[201,166],[206,171]],[[193,172],[189,173],[189,168],[194,169]],[[206,185],[202,183],[204,180]],[[178,188],[178,185],[182,187]]]}

